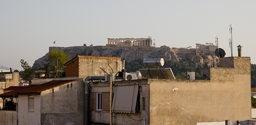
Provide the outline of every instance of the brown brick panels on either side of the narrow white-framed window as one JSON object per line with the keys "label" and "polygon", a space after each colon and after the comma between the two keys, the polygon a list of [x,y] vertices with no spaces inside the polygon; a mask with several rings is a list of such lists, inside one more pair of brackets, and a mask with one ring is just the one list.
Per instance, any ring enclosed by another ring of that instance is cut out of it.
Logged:
{"label": "brown brick panels on either side of the narrow white-framed window", "polygon": [[[92,110],[97,110],[97,93],[92,93]],[[110,110],[110,93],[102,93],[102,110]]]}

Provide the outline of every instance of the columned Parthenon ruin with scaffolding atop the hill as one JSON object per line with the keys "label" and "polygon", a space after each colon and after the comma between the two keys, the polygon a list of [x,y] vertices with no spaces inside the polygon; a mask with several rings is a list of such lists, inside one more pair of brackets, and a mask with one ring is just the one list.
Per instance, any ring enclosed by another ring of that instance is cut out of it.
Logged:
{"label": "columned Parthenon ruin with scaffolding atop the hill", "polygon": [[148,37],[148,38],[108,38],[108,45],[152,47],[152,39],[151,39],[151,37]]}

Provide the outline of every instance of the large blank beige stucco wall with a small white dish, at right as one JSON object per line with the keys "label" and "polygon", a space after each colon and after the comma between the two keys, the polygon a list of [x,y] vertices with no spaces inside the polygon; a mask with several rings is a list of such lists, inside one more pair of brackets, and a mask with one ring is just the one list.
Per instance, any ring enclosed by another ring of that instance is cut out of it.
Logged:
{"label": "large blank beige stucco wall with a small white dish, at right", "polygon": [[[150,124],[181,125],[251,119],[250,76],[232,81],[148,80]],[[172,89],[178,88],[177,93]]]}

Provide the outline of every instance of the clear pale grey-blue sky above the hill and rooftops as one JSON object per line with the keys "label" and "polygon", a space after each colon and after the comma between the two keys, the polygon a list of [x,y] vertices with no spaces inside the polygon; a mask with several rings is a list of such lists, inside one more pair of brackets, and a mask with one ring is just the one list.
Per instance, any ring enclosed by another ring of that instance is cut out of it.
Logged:
{"label": "clear pale grey-blue sky above the hill and rooftops", "polygon": [[[0,68],[23,70],[49,47],[105,46],[107,38],[148,38],[156,47],[213,43],[256,64],[256,0],[0,0]],[[56,44],[53,44],[53,42]]]}

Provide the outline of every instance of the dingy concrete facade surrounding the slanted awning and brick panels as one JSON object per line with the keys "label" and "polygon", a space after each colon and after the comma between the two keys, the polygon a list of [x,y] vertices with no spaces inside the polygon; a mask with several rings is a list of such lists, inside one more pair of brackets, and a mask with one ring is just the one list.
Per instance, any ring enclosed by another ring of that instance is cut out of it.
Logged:
{"label": "dingy concrete facade surrounding the slanted awning and brick panels", "polygon": [[[143,125],[143,119],[145,119],[146,125],[149,125],[149,84],[147,79],[142,80],[129,80],[129,81],[115,81],[115,85],[118,86],[134,86],[134,83],[141,86],[142,92],[140,92],[140,113],[113,113],[113,125]],[[91,93],[91,121],[95,123],[110,123],[110,82],[95,82],[90,84]],[[114,86],[115,87],[115,86]],[[113,87],[113,88],[114,88]],[[114,89],[113,89],[114,90]],[[102,110],[96,110],[96,93],[102,93]],[[145,110],[143,108],[142,98],[145,97]],[[131,119],[131,118],[132,119]],[[134,120],[136,119],[136,120]],[[140,120],[141,119],[141,120]]]}

